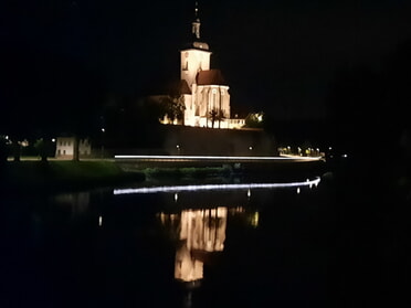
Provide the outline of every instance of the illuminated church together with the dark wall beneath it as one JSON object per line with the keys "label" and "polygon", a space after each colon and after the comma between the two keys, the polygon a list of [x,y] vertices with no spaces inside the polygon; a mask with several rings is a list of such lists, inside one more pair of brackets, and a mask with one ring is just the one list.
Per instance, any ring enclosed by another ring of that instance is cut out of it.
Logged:
{"label": "illuminated church together with the dark wall beneath it", "polygon": [[167,104],[166,109],[172,113],[161,120],[167,125],[161,150],[168,155],[277,155],[273,136],[245,128],[245,118],[232,117],[230,86],[220,70],[210,68],[212,53],[201,40],[200,25],[196,3],[192,39],[180,50],[180,79],[168,95],[151,96],[151,102]]}

